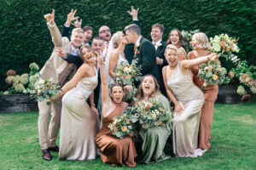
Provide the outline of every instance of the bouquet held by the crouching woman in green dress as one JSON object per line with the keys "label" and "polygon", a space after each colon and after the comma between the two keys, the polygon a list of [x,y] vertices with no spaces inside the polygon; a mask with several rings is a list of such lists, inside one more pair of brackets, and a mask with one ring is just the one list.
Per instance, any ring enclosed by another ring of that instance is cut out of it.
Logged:
{"label": "bouquet held by the crouching woman in green dress", "polygon": [[143,129],[158,127],[166,123],[166,112],[156,99],[149,99],[137,104],[137,119]]}

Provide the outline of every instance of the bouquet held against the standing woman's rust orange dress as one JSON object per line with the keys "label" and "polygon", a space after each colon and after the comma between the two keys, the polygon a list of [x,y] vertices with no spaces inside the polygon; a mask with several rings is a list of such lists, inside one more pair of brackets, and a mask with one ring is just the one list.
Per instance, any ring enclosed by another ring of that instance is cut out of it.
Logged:
{"label": "bouquet held against the standing woman's rust orange dress", "polygon": [[227,70],[221,65],[218,65],[215,59],[211,59],[207,64],[199,65],[198,77],[204,80],[202,89],[206,88],[208,84],[227,84],[230,82],[230,77],[226,76]]}

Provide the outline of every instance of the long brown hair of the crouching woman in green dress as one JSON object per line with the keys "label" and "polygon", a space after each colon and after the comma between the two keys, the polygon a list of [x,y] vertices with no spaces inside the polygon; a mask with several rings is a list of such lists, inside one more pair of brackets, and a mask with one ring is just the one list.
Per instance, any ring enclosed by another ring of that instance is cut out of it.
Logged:
{"label": "long brown hair of the crouching woman in green dress", "polygon": [[138,101],[140,101],[141,99],[143,99],[144,94],[143,94],[143,88],[142,88],[142,84],[143,84],[143,80],[145,79],[145,77],[152,77],[154,80],[154,84],[155,84],[155,88],[152,94],[149,95],[149,98],[154,98],[154,96],[156,94],[160,93],[160,86],[158,84],[158,82],[156,81],[156,78],[152,75],[145,75],[140,83],[140,85],[137,88],[137,96],[136,98],[138,99]]}

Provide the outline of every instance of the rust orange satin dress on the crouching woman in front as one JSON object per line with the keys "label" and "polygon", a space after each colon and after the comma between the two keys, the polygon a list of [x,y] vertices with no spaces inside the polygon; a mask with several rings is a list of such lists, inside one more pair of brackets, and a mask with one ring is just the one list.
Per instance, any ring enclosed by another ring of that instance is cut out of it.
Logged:
{"label": "rust orange satin dress on the crouching woman in front", "polygon": [[96,144],[101,151],[101,158],[104,163],[117,164],[121,166],[136,167],[134,158],[137,156],[135,145],[130,136],[118,139],[112,135],[109,130],[109,123],[113,122],[113,116],[120,116],[125,107],[115,104],[116,108],[102,119],[102,128],[96,135]]}

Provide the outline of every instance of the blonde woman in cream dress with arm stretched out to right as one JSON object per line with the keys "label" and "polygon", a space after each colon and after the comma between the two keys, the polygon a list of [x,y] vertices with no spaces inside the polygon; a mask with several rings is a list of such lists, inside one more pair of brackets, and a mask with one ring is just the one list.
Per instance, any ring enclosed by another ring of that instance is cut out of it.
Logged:
{"label": "blonde woman in cream dress with arm stretched out to right", "polygon": [[166,92],[175,105],[172,121],[173,151],[178,157],[201,156],[201,150],[196,148],[204,95],[192,82],[189,69],[209,61],[216,54],[178,61],[177,51],[177,47],[172,44],[166,47],[165,56],[169,65],[163,68]]}

